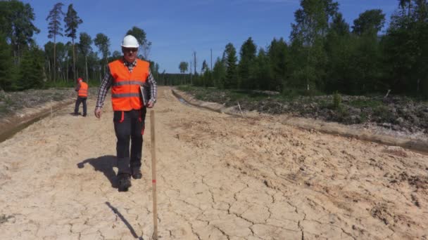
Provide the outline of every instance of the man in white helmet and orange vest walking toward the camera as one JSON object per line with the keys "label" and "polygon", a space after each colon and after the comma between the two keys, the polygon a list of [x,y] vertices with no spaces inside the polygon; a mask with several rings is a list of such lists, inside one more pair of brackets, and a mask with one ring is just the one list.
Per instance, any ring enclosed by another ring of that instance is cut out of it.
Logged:
{"label": "man in white helmet and orange vest walking toward the camera", "polygon": [[[146,107],[156,102],[157,85],[150,72],[150,64],[137,58],[139,44],[132,35],[122,40],[123,58],[108,63],[108,71],[99,88],[94,114],[101,118],[102,107],[108,88],[111,88],[113,123],[115,127],[118,158],[119,191],[131,187],[132,178],[141,175],[141,151],[143,146]],[[141,98],[140,86],[149,89],[146,105]],[[130,152],[131,141],[131,152]]]}

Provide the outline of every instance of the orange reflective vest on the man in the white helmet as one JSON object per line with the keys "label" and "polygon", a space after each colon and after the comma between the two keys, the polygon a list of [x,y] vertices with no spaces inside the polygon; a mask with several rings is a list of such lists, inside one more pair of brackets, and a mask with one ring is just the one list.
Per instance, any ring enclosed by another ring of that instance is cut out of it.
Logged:
{"label": "orange reflective vest on the man in the white helmet", "polygon": [[137,59],[137,65],[130,72],[122,59],[108,64],[111,76],[113,76],[111,87],[113,111],[130,111],[143,107],[139,86],[146,82],[149,76],[149,66],[149,62]]}

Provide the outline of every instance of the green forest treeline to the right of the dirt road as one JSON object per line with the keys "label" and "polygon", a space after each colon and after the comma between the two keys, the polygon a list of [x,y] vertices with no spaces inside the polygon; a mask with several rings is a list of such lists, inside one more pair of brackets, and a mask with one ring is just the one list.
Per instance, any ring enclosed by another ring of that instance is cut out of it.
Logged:
{"label": "green forest treeline to the right of the dirt road", "polygon": [[180,72],[193,71],[196,86],[428,98],[427,0],[398,0],[384,32],[382,9],[360,13],[351,26],[333,0],[301,0],[294,16],[289,42],[273,39],[258,48],[249,37],[239,52],[227,44],[213,69],[206,60],[200,70],[180,62]]}

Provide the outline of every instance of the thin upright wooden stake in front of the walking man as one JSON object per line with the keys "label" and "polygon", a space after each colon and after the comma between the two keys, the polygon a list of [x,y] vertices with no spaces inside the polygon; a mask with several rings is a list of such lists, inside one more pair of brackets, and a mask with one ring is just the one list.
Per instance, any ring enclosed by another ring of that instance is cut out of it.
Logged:
{"label": "thin upright wooden stake in front of the walking man", "polygon": [[153,240],[158,239],[158,204],[156,200],[156,141],[155,141],[155,111],[150,110],[151,135],[151,182],[153,185]]}

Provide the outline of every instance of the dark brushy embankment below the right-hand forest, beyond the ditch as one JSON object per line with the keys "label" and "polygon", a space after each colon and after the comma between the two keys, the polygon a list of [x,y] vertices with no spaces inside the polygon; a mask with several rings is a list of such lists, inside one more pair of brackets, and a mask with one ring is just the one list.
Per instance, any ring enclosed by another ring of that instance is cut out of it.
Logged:
{"label": "dark brushy embankment below the right-hand forest, beyond the ditch", "polygon": [[[287,114],[346,125],[378,126],[405,134],[428,135],[428,102],[405,96],[317,95],[283,96],[273,91],[233,91],[182,87],[205,102],[243,111]],[[246,98],[243,98],[246,96]]]}

